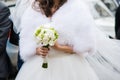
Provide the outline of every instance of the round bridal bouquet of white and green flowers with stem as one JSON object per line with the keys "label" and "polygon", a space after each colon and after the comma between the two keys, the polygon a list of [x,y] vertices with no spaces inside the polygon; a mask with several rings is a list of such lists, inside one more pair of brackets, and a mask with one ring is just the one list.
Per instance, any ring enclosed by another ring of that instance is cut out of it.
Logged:
{"label": "round bridal bouquet of white and green flowers with stem", "polygon": [[[49,48],[49,46],[53,46],[58,39],[58,32],[51,27],[50,24],[45,24],[35,30],[34,36],[37,40],[37,44],[41,44],[43,47]],[[42,67],[47,68],[47,59],[46,57],[43,57],[43,59]]]}

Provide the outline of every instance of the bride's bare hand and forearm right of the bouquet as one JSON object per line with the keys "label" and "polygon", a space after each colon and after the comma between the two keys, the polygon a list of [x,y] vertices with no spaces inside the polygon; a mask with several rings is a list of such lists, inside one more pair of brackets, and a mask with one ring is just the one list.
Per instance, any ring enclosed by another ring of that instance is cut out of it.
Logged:
{"label": "bride's bare hand and forearm right of the bouquet", "polygon": [[60,51],[64,51],[66,53],[74,53],[72,46],[68,46],[68,45],[60,45],[58,44],[58,42],[56,42],[53,46],[53,48],[60,50]]}

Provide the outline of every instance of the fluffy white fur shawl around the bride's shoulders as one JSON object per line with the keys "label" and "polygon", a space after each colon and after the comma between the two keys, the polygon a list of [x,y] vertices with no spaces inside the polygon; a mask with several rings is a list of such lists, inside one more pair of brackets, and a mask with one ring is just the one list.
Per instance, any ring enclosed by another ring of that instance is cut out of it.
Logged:
{"label": "fluffy white fur shawl around the bride's shoulders", "polygon": [[35,55],[33,33],[41,24],[50,23],[58,31],[60,44],[72,45],[78,54],[94,53],[94,21],[81,0],[68,0],[51,19],[31,6],[24,12],[20,28],[20,55],[24,61]]}

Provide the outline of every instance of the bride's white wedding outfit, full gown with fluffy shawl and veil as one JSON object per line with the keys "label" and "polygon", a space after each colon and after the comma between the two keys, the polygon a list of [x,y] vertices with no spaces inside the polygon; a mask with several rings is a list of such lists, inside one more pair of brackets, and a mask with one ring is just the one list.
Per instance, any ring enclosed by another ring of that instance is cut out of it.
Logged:
{"label": "bride's white wedding outfit, full gown with fluffy shawl and veil", "polygon": [[[44,69],[43,58],[35,55],[38,45],[33,33],[46,23],[51,23],[58,31],[58,42],[73,46],[76,54],[51,48],[48,68]],[[68,0],[51,19],[29,6],[15,30],[20,32],[20,56],[25,61],[15,80],[120,79],[120,48],[95,27],[88,8],[80,0]],[[115,46],[116,51],[109,46]]]}

